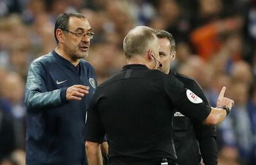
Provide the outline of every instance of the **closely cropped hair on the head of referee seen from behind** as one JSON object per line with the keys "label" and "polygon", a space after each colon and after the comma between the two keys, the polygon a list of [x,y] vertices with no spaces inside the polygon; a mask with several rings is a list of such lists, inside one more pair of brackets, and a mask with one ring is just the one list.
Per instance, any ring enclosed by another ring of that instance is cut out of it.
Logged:
{"label": "closely cropped hair on the head of referee seen from behind", "polygon": [[[145,55],[148,50],[157,51],[158,41],[156,31],[147,26],[137,26],[131,29],[124,38],[124,53],[127,59],[134,55]],[[158,53],[158,52],[157,52]]]}

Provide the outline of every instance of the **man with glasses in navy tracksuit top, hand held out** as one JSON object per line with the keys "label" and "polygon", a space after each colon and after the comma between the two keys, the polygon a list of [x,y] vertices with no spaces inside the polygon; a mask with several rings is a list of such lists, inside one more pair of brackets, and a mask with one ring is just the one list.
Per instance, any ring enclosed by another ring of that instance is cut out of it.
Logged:
{"label": "man with glasses in navy tracksuit top, hand held out", "polygon": [[86,164],[86,108],[97,87],[88,55],[93,32],[79,13],[56,19],[57,47],[31,63],[26,82],[26,164]]}

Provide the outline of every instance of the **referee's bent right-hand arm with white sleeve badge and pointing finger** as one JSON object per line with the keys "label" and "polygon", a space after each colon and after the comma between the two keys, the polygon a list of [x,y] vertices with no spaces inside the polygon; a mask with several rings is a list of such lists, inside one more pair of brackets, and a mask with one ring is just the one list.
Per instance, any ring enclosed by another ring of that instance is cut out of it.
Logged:
{"label": "referee's bent right-hand arm with white sleeve badge and pointing finger", "polygon": [[221,107],[212,108],[191,90],[186,89],[184,84],[179,82],[175,76],[170,76],[168,79],[164,79],[164,89],[174,106],[191,120],[203,122],[207,125],[220,124],[234,105],[232,99],[224,97],[226,87],[223,87],[218,99]]}

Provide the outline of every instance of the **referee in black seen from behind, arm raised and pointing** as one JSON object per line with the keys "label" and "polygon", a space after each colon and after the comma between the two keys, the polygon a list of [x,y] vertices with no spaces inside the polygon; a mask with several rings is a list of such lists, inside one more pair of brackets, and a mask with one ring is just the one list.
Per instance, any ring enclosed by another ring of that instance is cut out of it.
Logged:
{"label": "referee in black seen from behind, arm raised and pointing", "polygon": [[127,65],[98,87],[87,110],[88,164],[102,164],[100,143],[105,134],[112,165],[177,164],[172,136],[175,108],[198,122],[218,124],[234,101],[221,97],[222,107],[211,108],[175,76],[155,70],[159,43],[150,27],[129,31],[124,52]]}

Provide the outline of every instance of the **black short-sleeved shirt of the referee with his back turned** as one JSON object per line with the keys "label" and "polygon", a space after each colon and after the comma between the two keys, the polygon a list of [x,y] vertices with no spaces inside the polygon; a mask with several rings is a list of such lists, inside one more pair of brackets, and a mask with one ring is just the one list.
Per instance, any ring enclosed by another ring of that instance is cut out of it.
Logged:
{"label": "black short-sleeved shirt of the referee with his back turned", "polygon": [[172,75],[141,64],[124,66],[102,83],[87,110],[86,140],[101,143],[106,134],[111,164],[170,164],[174,108],[203,122],[211,108]]}

